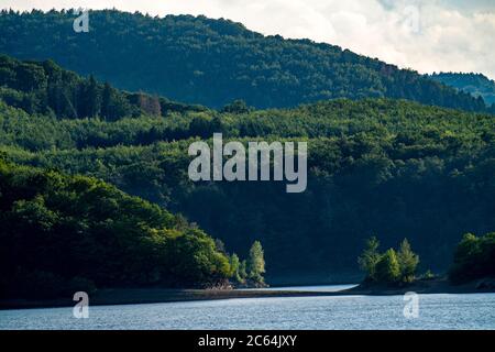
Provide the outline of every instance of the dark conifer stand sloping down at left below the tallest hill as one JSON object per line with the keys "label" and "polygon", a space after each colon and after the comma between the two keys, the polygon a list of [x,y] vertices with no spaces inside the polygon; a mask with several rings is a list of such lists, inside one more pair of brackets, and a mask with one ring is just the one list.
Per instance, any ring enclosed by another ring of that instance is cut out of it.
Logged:
{"label": "dark conifer stand sloping down at left below the tallest hill", "polygon": [[117,121],[141,114],[162,116],[170,111],[202,111],[165,98],[130,94],[62,69],[53,61],[20,62],[0,55],[0,99],[30,114],[53,114],[58,119],[99,117]]}

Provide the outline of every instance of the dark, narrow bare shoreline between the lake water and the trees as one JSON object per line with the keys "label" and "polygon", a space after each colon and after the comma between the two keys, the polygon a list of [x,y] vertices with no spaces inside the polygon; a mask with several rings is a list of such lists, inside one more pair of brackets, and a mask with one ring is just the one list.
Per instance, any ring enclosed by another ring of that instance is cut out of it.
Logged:
{"label": "dark, narrow bare shoreline between the lake water and the trees", "polygon": [[[290,297],[332,297],[332,296],[393,296],[407,292],[417,294],[482,294],[495,293],[494,286],[480,287],[481,282],[453,286],[446,279],[418,280],[405,287],[358,285],[337,292],[304,290],[263,290],[263,289],[167,289],[167,288],[106,288],[89,297],[90,306],[116,306],[180,302],[199,300],[219,300],[237,298],[290,298]],[[74,307],[77,301],[67,298],[57,299],[4,299],[0,300],[0,310]]]}

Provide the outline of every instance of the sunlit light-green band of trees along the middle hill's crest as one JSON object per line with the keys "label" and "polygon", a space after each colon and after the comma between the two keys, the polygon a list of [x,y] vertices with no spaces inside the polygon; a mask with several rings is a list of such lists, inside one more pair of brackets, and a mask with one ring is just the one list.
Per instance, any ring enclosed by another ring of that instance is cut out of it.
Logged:
{"label": "sunlit light-green band of trees along the middle hill's crest", "polygon": [[215,132],[223,133],[227,139],[318,140],[361,134],[374,140],[382,138],[383,141],[376,142],[381,145],[395,139],[396,143],[387,148],[396,148],[397,157],[411,158],[452,154],[457,152],[455,146],[462,145],[486,146],[495,138],[494,119],[490,116],[387,99],[339,99],[290,110],[240,113],[187,110],[169,112],[165,118],[140,116],[118,121],[33,116],[13,109],[0,99],[0,125],[2,145],[28,151],[146,146],[209,139]]}

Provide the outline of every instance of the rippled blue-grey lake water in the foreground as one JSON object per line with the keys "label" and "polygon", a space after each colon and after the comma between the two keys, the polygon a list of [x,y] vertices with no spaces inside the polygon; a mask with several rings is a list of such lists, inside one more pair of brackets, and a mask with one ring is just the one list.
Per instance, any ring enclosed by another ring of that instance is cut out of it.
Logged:
{"label": "rippled blue-grey lake water in the foreground", "polygon": [[405,304],[403,296],[246,298],[89,307],[88,319],[72,308],[16,309],[0,311],[0,329],[495,329],[495,294],[420,295],[418,318],[404,317]]}

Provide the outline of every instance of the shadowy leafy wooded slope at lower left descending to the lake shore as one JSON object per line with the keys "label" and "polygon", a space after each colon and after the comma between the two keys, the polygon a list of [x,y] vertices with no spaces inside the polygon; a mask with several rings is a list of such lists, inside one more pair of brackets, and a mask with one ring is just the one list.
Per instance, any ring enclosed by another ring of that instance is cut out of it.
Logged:
{"label": "shadowy leafy wooded slope at lower left descending to the lake shore", "polygon": [[[101,180],[0,157],[0,297],[98,287],[263,284],[263,249],[246,261],[183,217]],[[242,265],[241,265],[241,264]]]}

